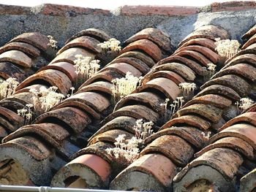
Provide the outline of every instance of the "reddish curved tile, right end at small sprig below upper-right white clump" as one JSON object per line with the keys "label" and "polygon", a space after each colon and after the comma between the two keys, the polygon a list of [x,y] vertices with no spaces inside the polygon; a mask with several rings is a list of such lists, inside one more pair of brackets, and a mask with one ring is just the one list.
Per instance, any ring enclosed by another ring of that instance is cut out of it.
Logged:
{"label": "reddish curved tile, right end at small sprig below upper-right white clump", "polygon": [[177,56],[181,56],[181,57],[184,57],[184,58],[192,59],[194,61],[197,61],[197,63],[200,64],[201,66],[208,67],[208,64],[212,63],[204,55],[202,55],[201,53],[198,53],[194,50],[184,50],[182,52],[174,53],[173,55],[175,55],[175,56],[177,55]]}

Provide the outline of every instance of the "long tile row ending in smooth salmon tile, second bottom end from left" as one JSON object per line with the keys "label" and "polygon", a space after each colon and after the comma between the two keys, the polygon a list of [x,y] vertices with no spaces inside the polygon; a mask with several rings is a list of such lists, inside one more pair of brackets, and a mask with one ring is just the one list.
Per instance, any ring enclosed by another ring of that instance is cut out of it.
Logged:
{"label": "long tile row ending in smooth salmon tile, second bottom end from left", "polygon": [[[208,31],[207,34],[206,31]],[[181,47],[172,56],[159,61],[154,70],[146,74],[143,85],[116,104],[114,112],[102,121],[102,128],[94,134],[94,137],[89,139],[89,146],[80,150],[74,156],[76,158],[73,161],[60,169],[53,178],[53,186],[65,186],[65,181],[71,180],[71,178],[76,176],[74,181],[78,183],[79,180],[81,183],[86,183],[86,188],[108,187],[111,176],[115,175],[115,167],[112,170],[110,167],[117,162],[115,158],[112,158],[105,152],[105,149],[113,147],[113,143],[116,142],[115,139],[118,135],[126,134],[127,139],[131,138],[135,134],[134,126],[138,119],[142,118],[146,121],[151,120],[154,123],[158,123],[161,115],[160,104],[164,103],[166,98],[170,99],[170,101],[176,99],[180,93],[178,85],[181,82],[192,82],[196,77],[202,77],[204,74],[203,70],[205,70],[204,68],[208,64],[207,62],[219,63],[219,55],[214,53],[214,39],[217,37],[226,39],[227,32],[216,26],[206,26],[198,28],[193,34],[195,34],[195,38],[208,39],[209,43],[206,45],[211,49],[203,45],[194,45],[189,36],[187,41],[184,40],[184,43],[190,41],[191,45],[187,43],[187,46]],[[162,157],[165,158],[163,155],[158,155],[156,158],[150,158],[148,161],[162,162]],[[100,167],[98,166],[99,164],[101,164]],[[121,179],[121,186],[124,188],[113,188],[128,190],[133,188],[131,185],[136,185],[137,190],[162,190],[162,188],[165,188],[162,185],[166,186],[169,184],[162,180],[158,182],[158,178],[153,181],[154,179],[149,174],[146,177],[143,176],[143,172],[148,173],[152,171],[150,169],[153,165],[154,162],[152,162],[151,167],[148,169],[143,169],[140,166],[138,168],[140,170],[136,171],[133,175],[135,177],[129,177],[131,180]],[[83,170],[77,172],[78,167]],[[166,167],[166,172],[168,171],[171,170]],[[173,173],[168,172],[167,174],[167,177],[169,177],[169,174]],[[87,177],[94,178],[94,185],[86,182]],[[152,182],[148,182],[149,180]]]}

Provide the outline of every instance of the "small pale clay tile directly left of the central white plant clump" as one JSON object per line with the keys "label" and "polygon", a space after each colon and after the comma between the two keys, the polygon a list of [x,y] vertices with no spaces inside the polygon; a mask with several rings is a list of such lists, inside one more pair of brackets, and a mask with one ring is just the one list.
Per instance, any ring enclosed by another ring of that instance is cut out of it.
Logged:
{"label": "small pale clay tile directly left of the central white plant clump", "polygon": [[79,88],[79,90],[75,93],[95,91],[95,92],[108,93],[112,95],[112,89],[113,89],[113,83],[108,81],[97,81]]}

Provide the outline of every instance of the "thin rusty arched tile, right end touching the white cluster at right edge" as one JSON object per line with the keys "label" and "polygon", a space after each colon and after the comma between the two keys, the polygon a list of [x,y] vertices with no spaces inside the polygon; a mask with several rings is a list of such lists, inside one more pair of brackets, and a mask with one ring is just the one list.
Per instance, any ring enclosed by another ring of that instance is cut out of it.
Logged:
{"label": "thin rusty arched tile, right end touching the white cluster at right edge", "polygon": [[216,94],[220,96],[225,96],[227,99],[232,101],[238,101],[241,97],[234,91],[232,88],[226,87],[224,85],[210,85],[207,88],[203,89],[195,96],[205,96],[208,94]]}

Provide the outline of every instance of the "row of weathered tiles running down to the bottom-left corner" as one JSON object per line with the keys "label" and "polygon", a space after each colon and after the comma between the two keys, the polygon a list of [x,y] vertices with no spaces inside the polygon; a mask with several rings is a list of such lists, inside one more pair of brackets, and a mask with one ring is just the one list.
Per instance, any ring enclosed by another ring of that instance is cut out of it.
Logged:
{"label": "row of weathered tiles running down to the bottom-left corner", "polygon": [[[74,40],[78,42],[77,39],[84,38],[83,36],[84,34],[82,37],[76,35]],[[74,40],[68,42],[66,46]],[[170,39],[168,42],[170,43]],[[21,166],[17,166],[18,170],[12,167],[13,172],[19,174],[9,180],[10,184],[26,185],[29,180],[29,183],[35,185],[49,185],[56,170],[67,164],[73,153],[85,147],[86,132],[108,115],[111,107],[113,109],[113,104],[110,102],[112,80],[124,77],[127,72],[137,77],[146,74],[150,67],[162,58],[160,48],[148,39],[136,40],[127,47],[121,51],[121,55],[115,61],[81,85],[74,95],[53,107],[53,110],[39,116],[34,124],[23,126],[3,139],[3,144],[0,145],[0,158],[4,166],[12,166],[11,160],[12,164],[22,166],[22,169]],[[150,50],[148,47],[153,48]],[[73,61],[74,55],[89,53],[78,47],[64,49],[60,50],[60,54],[51,64]],[[70,53],[66,54],[67,52]],[[45,69],[47,70],[53,69]],[[69,85],[63,80],[60,80],[59,84],[66,87]],[[78,169],[74,170],[78,171]],[[26,177],[20,181],[22,175]],[[67,183],[69,181],[64,185]]]}

